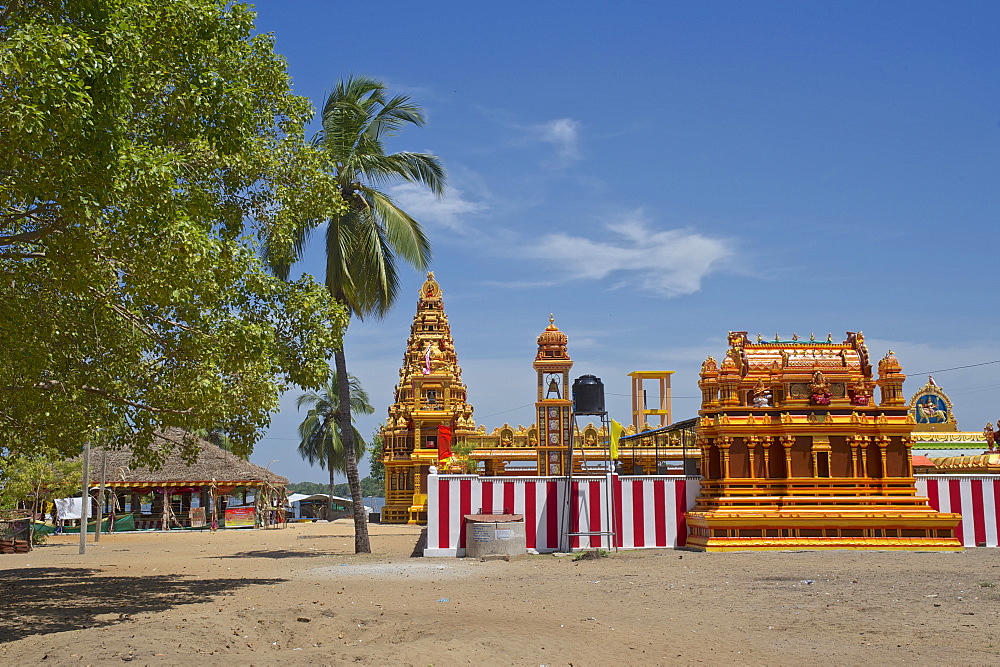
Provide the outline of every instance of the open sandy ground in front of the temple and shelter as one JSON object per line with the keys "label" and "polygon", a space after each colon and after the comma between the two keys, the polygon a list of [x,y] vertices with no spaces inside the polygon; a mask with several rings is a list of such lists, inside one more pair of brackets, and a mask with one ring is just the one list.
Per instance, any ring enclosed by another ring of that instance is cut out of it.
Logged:
{"label": "open sandy ground in front of the temple and shelter", "polygon": [[0,663],[1000,662],[1000,551],[413,557],[420,529],[78,536],[0,556]]}

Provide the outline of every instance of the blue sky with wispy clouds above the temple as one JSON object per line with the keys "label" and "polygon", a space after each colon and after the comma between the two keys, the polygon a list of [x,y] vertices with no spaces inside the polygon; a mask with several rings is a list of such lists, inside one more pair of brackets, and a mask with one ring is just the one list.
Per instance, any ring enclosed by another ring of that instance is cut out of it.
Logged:
{"label": "blue sky with wispy clouds above the temple", "polygon": [[[633,370],[674,370],[678,419],[726,333],[866,334],[926,373],[1000,359],[1000,4],[256,3],[295,91],[351,73],[428,115],[393,150],[441,157],[427,228],[478,423],[532,418],[550,312],[573,376],[628,421]],[[321,238],[317,236],[317,240]],[[321,275],[321,250],[301,268]],[[372,432],[392,401],[421,274],[353,323]],[[935,373],[960,428],[1000,418],[1000,364]],[[295,452],[290,392],[252,458]],[[651,399],[652,400],[652,399]],[[362,472],[367,472],[367,462]]]}

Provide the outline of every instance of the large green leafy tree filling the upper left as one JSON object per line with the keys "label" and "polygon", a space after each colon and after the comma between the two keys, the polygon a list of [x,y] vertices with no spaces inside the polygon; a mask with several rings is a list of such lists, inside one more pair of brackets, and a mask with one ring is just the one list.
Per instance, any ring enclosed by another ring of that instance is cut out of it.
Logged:
{"label": "large green leafy tree filling the upper left", "polygon": [[[0,8],[0,427],[73,455],[171,426],[250,452],[318,387],[347,313],[260,260],[346,211],[309,102],[224,0]],[[194,458],[193,439],[181,443]]]}

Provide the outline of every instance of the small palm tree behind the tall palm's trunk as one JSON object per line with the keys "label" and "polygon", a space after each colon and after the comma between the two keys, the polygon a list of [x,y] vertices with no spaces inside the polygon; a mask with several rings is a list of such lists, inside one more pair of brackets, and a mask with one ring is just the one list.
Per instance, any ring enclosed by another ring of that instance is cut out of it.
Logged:
{"label": "small palm tree behind the tall palm's trunk", "polygon": [[[295,407],[299,410],[302,409],[302,406],[309,408],[306,418],[299,424],[299,455],[311,465],[318,464],[320,468],[330,473],[328,517],[332,516],[333,512],[335,473],[347,472],[344,438],[341,437],[340,428],[335,426],[340,404],[337,378],[336,373],[332,374],[327,380],[326,386],[322,387],[320,391],[307,391],[295,401]],[[352,413],[370,415],[375,412],[375,408],[368,400],[368,393],[353,375],[348,376],[348,386],[350,387]],[[356,461],[365,453],[365,441],[353,424],[351,431],[354,436],[354,458]],[[358,514],[358,508],[363,507],[355,501],[355,514]],[[364,512],[361,514],[363,515]]]}

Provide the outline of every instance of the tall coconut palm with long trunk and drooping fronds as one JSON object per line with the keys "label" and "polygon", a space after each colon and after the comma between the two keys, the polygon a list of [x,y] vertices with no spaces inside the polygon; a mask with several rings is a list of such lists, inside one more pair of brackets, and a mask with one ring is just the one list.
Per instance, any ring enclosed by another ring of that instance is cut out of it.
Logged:
{"label": "tall coconut palm with long trunk and drooping fronds", "polygon": [[[386,154],[384,141],[407,125],[422,126],[423,111],[405,95],[388,98],[381,81],[366,76],[339,81],[323,105],[322,129],[313,139],[324,154],[346,203],[343,213],[326,226],[326,286],[352,316],[364,319],[389,312],[399,292],[396,258],[418,270],[430,261],[430,242],[420,223],[400,209],[378,188],[394,180],[425,185],[436,195],[444,192],[445,173],[440,160],[425,153]],[[296,239],[298,256],[308,230]],[[267,253],[267,248],[265,248]],[[289,267],[272,263],[279,276]],[[344,439],[344,463],[351,499],[360,506],[361,478],[354,453],[350,384],[344,347],[334,353],[339,379],[337,423]],[[354,550],[371,552],[368,524],[354,514]]]}

